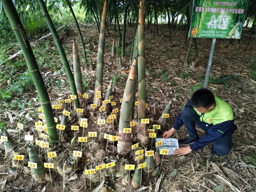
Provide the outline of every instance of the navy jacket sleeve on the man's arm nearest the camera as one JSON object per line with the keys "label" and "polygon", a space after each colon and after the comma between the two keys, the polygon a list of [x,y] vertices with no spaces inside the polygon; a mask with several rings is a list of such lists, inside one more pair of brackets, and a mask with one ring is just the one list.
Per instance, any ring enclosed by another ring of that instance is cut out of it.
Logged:
{"label": "navy jacket sleeve on the man's arm nearest the camera", "polygon": [[228,131],[228,129],[232,126],[233,123],[234,120],[225,121],[220,124],[215,124],[200,139],[196,140],[193,144],[191,144],[190,149],[192,151],[202,149],[212,141],[219,139]]}

